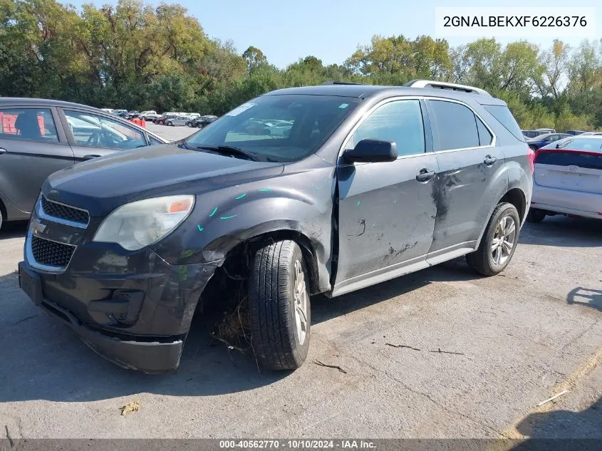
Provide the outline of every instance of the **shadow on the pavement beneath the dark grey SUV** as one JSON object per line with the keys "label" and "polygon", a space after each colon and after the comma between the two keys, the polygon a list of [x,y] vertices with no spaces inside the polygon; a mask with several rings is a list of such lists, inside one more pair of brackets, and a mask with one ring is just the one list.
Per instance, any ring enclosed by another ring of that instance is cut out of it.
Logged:
{"label": "shadow on the pavement beneath the dark grey SUV", "polygon": [[[313,299],[313,323],[400,296],[432,281],[476,279],[464,259],[384,282],[341,298]],[[207,311],[194,317],[180,368],[145,375],[124,370],[88,349],[59,321],[38,309],[19,289],[17,274],[0,277],[0,402],[52,400],[83,402],[147,392],[210,396],[271,385],[290,372],[259,372],[252,356],[209,336],[222,317]]]}

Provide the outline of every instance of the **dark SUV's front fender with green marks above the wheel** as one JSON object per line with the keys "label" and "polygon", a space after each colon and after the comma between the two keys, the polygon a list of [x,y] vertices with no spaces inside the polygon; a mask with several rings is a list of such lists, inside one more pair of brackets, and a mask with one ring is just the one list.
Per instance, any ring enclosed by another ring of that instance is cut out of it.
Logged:
{"label": "dark SUV's front fender with green marks above the wheel", "polygon": [[331,271],[335,168],[313,155],[256,180],[197,195],[190,217],[155,251],[170,264],[222,261],[237,244],[260,234],[291,230],[311,243],[321,288]]}

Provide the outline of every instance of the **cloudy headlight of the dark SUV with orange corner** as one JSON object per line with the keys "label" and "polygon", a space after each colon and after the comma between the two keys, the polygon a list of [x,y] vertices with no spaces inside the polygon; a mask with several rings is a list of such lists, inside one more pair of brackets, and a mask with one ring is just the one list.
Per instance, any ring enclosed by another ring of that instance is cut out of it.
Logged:
{"label": "cloudy headlight of the dark SUV with orange corner", "polygon": [[125,204],[105,218],[92,241],[142,249],[172,232],[192,211],[194,196],[167,196]]}

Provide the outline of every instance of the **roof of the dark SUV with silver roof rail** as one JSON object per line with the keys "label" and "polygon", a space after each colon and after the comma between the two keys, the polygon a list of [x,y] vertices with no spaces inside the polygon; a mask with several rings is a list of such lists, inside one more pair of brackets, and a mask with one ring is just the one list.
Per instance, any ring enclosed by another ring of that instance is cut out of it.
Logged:
{"label": "roof of the dark SUV with silver roof rail", "polygon": [[[410,83],[416,83],[410,82]],[[455,85],[454,83],[429,82],[432,85],[446,86],[446,88],[432,88],[425,83],[425,87],[410,86],[381,86],[381,85],[355,85],[355,84],[328,84],[318,86],[301,86],[299,88],[284,88],[271,91],[264,95],[338,95],[341,97],[353,98],[373,98],[373,97],[392,97],[395,95],[428,95],[432,97],[451,98],[462,101],[476,101],[482,105],[506,105],[503,100],[492,97],[486,91],[474,88],[473,92],[454,90],[455,86],[462,88],[472,88],[464,85]],[[447,88],[449,86],[450,88]],[[479,92],[480,91],[480,92]],[[482,94],[482,93],[485,94]]]}

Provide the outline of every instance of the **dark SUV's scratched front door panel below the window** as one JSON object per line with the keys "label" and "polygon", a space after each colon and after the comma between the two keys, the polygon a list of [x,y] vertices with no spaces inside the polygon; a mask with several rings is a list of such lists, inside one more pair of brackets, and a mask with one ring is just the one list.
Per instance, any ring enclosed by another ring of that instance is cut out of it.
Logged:
{"label": "dark SUV's scratched front door panel below the window", "polygon": [[437,171],[435,156],[338,168],[337,285],[426,255],[436,207],[432,182],[416,180],[422,168]]}

